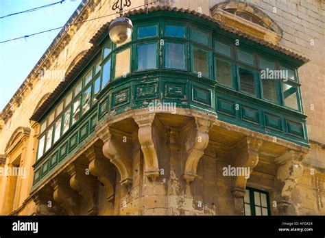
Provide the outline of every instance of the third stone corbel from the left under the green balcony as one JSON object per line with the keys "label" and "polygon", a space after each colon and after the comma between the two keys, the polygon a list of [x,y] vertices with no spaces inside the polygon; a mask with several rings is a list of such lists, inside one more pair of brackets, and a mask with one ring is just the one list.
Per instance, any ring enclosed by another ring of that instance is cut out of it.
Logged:
{"label": "third stone corbel from the left under the green balcony", "polygon": [[70,186],[77,191],[88,204],[88,215],[97,214],[98,182],[94,176],[89,174],[88,166],[78,163],[71,163],[67,167],[67,172],[71,175]]}

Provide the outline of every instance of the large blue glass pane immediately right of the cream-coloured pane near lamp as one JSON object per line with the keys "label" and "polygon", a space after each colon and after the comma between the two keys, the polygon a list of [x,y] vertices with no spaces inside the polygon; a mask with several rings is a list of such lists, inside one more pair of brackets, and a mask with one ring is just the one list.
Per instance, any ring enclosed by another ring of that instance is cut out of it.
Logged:
{"label": "large blue glass pane immediately right of the cream-coloured pane near lamp", "polygon": [[138,45],[138,70],[157,68],[157,44]]}

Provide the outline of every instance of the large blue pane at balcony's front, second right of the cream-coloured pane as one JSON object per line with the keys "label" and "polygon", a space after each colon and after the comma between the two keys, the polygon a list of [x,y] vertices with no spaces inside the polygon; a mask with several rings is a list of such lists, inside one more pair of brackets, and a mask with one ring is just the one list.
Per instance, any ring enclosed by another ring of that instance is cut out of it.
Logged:
{"label": "large blue pane at balcony's front, second right of the cream-coloured pane", "polygon": [[185,69],[185,46],[184,44],[165,44],[165,66],[166,68]]}

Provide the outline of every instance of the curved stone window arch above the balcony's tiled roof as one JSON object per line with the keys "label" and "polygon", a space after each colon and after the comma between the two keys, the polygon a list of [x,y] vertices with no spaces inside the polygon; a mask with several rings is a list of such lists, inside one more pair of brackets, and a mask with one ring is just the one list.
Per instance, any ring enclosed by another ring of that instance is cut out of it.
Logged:
{"label": "curved stone window arch above the balcony's tiled roof", "polygon": [[265,12],[251,3],[226,1],[210,8],[214,18],[246,34],[278,44],[282,29]]}

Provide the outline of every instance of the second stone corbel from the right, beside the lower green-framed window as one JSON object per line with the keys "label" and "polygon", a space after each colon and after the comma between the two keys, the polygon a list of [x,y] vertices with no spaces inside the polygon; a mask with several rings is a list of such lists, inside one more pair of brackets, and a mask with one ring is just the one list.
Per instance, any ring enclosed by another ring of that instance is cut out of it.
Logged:
{"label": "second stone corbel from the right, beside the lower green-framed window", "polygon": [[237,142],[232,148],[232,166],[234,168],[241,167],[242,171],[249,174],[241,174],[232,177],[232,196],[234,196],[234,211],[239,215],[243,215],[243,197],[245,196],[245,189],[248,178],[253,169],[258,163],[258,150],[263,145],[262,140],[254,137],[245,137],[243,140]]}

